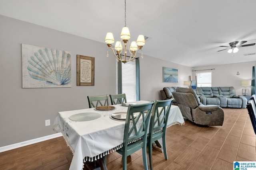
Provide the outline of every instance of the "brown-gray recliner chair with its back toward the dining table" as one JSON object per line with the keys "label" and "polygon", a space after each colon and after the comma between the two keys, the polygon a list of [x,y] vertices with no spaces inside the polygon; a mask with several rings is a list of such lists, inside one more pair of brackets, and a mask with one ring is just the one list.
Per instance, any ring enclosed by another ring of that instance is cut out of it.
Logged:
{"label": "brown-gray recliner chair with its back toward the dining table", "polygon": [[184,117],[198,125],[222,126],[224,111],[216,105],[203,105],[192,88],[176,88],[172,92]]}

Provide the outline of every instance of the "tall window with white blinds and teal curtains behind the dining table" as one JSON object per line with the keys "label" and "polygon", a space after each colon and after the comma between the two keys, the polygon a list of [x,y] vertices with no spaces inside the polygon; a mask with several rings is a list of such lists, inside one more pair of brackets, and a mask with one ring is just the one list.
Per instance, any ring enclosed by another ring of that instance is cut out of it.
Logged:
{"label": "tall window with white blinds and teal curtains behind the dining table", "polygon": [[[127,102],[140,100],[139,92],[139,62],[117,62],[117,94],[126,94]],[[120,67],[120,68],[119,68]]]}

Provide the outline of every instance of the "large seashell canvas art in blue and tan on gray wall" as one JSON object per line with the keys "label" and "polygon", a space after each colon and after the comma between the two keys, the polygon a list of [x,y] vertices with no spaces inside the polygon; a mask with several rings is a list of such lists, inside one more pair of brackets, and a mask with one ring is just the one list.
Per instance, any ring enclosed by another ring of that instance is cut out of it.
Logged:
{"label": "large seashell canvas art in blue and tan on gray wall", "polygon": [[22,44],[22,88],[71,87],[71,53]]}

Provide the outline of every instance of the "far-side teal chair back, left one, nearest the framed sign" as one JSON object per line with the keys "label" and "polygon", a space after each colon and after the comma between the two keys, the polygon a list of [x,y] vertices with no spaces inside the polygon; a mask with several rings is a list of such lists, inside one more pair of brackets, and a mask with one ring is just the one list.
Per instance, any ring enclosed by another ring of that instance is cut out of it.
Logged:
{"label": "far-side teal chair back, left one, nearest the framed sign", "polygon": [[108,95],[104,96],[87,96],[89,108],[100,106],[108,106]]}

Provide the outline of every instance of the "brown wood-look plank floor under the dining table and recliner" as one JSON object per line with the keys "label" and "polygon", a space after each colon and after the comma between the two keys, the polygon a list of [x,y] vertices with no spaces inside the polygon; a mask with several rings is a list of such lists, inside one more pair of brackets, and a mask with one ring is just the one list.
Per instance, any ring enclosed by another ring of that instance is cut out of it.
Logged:
{"label": "brown wood-look plank floor under the dining table and recliner", "polygon": [[[199,127],[190,121],[167,129],[168,160],[153,151],[154,170],[230,170],[233,161],[256,161],[256,137],[247,109],[224,109],[223,126]],[[68,170],[72,152],[63,137],[0,153],[1,170]],[[142,170],[141,151],[128,158],[128,170]],[[117,152],[108,170],[122,169]]]}

